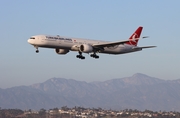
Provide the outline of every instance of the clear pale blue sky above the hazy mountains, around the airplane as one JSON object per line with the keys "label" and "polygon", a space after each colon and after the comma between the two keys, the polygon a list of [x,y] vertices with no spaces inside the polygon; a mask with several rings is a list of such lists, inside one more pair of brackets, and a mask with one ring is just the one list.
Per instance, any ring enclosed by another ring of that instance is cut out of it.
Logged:
{"label": "clear pale blue sky above the hazy mountains, around the airplane", "polygon": [[[2,0],[0,4],[0,88],[31,85],[52,77],[105,81],[144,73],[165,80],[180,78],[180,1]],[[143,26],[139,46],[156,45],[124,55],[99,54],[95,60],[77,52],[57,55],[35,49],[32,35],[50,34],[118,41]]]}

